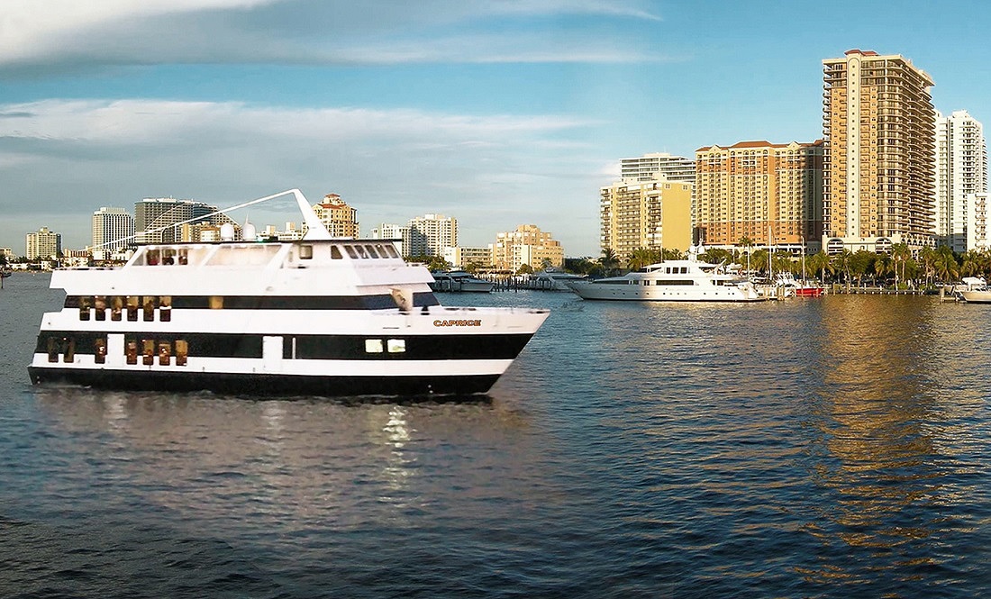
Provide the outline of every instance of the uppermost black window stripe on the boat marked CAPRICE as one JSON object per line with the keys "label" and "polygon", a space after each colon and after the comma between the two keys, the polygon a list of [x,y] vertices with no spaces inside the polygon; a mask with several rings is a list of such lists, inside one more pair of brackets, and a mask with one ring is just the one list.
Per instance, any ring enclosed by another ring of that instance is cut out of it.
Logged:
{"label": "uppermost black window stripe on the boat marked CAPRICE", "polygon": [[[67,295],[65,296],[65,308],[78,308],[79,299],[81,296],[78,295]],[[108,298],[110,296],[107,296]],[[117,296],[123,297],[123,296]],[[154,298],[155,305],[158,306],[160,296],[137,296],[137,297],[152,297]],[[197,309],[197,310],[207,310],[211,307],[210,296],[207,295],[172,295],[169,296],[171,300],[172,310],[183,310],[183,309]],[[105,300],[108,306],[107,311],[109,312],[109,306],[112,302],[107,299]],[[94,305],[94,300],[92,297],[86,298],[87,305],[92,310]],[[144,300],[140,302],[144,305]],[[221,297],[220,304],[223,306],[223,310],[385,310],[389,308],[395,308],[395,300],[392,299],[391,295],[259,295],[259,296],[249,296],[249,295],[225,295]],[[434,297],[431,292],[418,292],[413,294],[413,306],[416,308],[422,308],[424,306],[439,306],[440,302]],[[124,302],[122,308],[124,314],[127,314],[127,305]],[[141,308],[139,307],[138,312],[141,313]],[[127,318],[126,316],[124,317]],[[139,316],[141,318],[141,316]]]}

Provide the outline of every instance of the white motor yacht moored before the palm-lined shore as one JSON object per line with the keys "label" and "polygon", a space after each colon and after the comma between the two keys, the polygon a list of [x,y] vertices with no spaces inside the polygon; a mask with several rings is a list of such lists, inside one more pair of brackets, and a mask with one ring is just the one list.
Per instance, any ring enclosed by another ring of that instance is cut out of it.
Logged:
{"label": "white motor yacht moored before the palm-lined shore", "polygon": [[721,264],[699,260],[693,247],[685,260],[650,264],[623,276],[567,281],[583,299],[663,302],[759,302],[768,299],[754,284]]}

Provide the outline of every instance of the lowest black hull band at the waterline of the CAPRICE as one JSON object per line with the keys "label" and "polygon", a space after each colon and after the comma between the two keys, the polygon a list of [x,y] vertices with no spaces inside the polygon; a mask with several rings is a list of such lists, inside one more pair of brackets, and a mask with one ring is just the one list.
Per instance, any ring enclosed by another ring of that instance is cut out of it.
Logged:
{"label": "lowest black hull band at the waterline of the CAPRICE", "polygon": [[442,376],[291,376],[206,372],[126,372],[28,368],[33,384],[72,384],[124,391],[212,391],[231,395],[342,397],[470,395],[492,388],[497,374]]}

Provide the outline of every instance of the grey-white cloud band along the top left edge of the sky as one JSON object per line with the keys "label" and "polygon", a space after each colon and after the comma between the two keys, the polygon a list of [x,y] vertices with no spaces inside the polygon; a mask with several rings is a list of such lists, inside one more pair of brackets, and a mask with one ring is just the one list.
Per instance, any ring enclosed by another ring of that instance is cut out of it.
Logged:
{"label": "grey-white cloud band along the top left edge of the sky", "polygon": [[[569,21],[575,17],[591,17],[591,24],[658,20],[629,1],[7,0],[0,15],[0,72],[38,77],[174,63],[658,59],[611,35],[590,37],[587,27]],[[545,27],[528,31],[533,22]]]}

